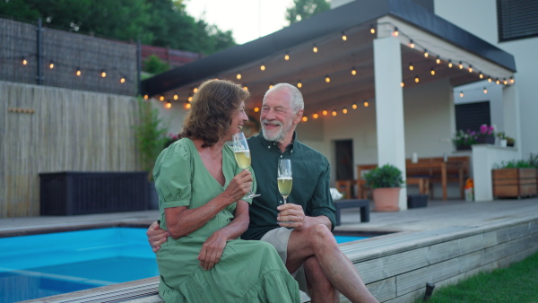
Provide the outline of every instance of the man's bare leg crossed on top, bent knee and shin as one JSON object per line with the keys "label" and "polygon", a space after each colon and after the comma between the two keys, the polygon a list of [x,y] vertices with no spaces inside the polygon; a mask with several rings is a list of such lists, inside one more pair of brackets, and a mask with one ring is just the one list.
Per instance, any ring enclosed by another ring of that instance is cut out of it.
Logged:
{"label": "man's bare leg crossed on top, bent knee and shin", "polygon": [[291,232],[286,260],[290,273],[296,271],[309,256],[316,256],[325,277],[351,302],[377,302],[325,225],[318,224]]}

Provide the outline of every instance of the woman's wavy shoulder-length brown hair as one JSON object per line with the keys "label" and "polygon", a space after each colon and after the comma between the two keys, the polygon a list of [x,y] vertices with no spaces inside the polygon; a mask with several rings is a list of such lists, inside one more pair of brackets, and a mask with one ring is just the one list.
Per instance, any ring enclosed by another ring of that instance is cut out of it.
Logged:
{"label": "woman's wavy shoulder-length brown hair", "polygon": [[241,101],[249,97],[248,91],[228,80],[202,83],[193,97],[179,137],[204,140],[202,147],[213,146],[228,132],[231,117]]}

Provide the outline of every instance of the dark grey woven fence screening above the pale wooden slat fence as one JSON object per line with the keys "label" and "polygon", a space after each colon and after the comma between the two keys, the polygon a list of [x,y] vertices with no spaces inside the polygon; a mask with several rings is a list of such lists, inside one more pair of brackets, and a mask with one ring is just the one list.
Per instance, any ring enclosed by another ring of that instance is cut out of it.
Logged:
{"label": "dark grey woven fence screening above the pale wooden slat fence", "polygon": [[[39,54],[37,28],[33,24],[0,19],[0,80],[37,84],[40,57],[43,85],[136,94],[135,44],[44,28]],[[22,57],[26,58],[27,65],[22,64]],[[80,68],[80,76],[76,75],[77,68]],[[104,78],[102,71],[107,74]],[[122,78],[125,82],[121,82]]]}

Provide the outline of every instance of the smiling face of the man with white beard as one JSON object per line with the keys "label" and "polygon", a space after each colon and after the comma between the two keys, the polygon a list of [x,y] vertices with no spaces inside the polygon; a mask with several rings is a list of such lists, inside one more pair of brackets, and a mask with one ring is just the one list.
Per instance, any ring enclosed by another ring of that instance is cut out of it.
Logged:
{"label": "smiling face of the man with white beard", "polygon": [[293,112],[288,91],[272,91],[265,97],[260,120],[265,140],[282,142],[299,123],[300,110]]}

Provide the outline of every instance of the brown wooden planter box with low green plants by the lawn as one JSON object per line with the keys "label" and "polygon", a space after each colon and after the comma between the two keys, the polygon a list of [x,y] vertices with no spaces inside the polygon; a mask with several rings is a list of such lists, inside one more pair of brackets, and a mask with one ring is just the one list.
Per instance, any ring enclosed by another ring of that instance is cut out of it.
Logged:
{"label": "brown wooden planter box with low green plants by the lawn", "polygon": [[531,153],[529,160],[501,161],[491,170],[493,196],[516,197],[534,196],[537,191],[538,155]]}

